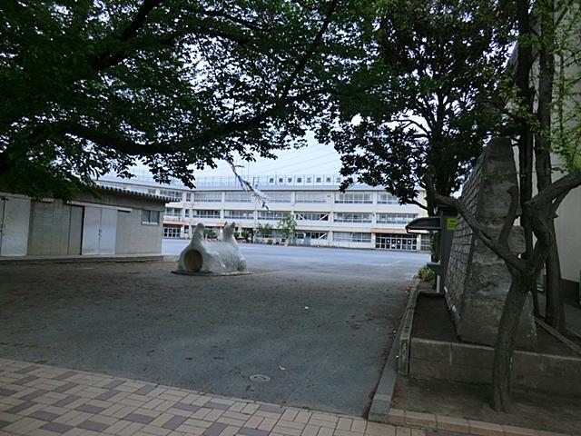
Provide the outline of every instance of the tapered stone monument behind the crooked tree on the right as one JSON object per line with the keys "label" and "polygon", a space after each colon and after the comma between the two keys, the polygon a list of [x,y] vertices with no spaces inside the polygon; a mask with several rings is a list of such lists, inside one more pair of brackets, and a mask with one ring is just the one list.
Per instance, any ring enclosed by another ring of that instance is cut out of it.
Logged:
{"label": "tapered stone monument behind the crooked tree on the right", "polygon": [[[508,189],[517,186],[517,170],[512,144],[507,138],[490,141],[478,159],[462,190],[462,201],[496,235],[500,233],[510,204]],[[522,228],[513,227],[510,235],[513,253],[522,253]],[[446,301],[458,337],[464,342],[494,345],[504,307],[510,273],[505,263],[472,234],[458,217],[458,225],[448,263]],[[532,299],[523,310],[517,345],[537,348]]]}

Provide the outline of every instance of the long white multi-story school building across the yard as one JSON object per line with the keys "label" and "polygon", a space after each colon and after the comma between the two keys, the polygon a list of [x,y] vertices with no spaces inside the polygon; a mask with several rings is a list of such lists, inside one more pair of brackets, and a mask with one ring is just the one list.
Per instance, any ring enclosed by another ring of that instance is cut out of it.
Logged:
{"label": "long white multi-story school building across the yard", "polygon": [[[217,233],[235,222],[240,231],[257,235],[270,224],[271,243],[281,242],[277,223],[285,213],[296,220],[294,241],[299,244],[386,250],[429,250],[428,234],[408,234],[406,223],[425,215],[418,205],[400,205],[381,188],[356,184],[340,193],[338,175],[273,175],[250,177],[249,182],[270,198],[266,207],[231,177],[199,177],[191,190],[179,183],[159,185],[146,178],[103,177],[102,185],[171,197],[163,218],[163,236],[188,238],[203,223]],[[419,193],[418,202],[423,202]]]}

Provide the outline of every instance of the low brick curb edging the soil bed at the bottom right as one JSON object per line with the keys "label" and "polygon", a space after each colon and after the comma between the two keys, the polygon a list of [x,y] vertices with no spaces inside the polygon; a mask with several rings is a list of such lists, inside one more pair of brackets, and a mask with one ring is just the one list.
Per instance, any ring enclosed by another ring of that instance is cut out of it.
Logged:
{"label": "low brick curb edging the soil bed at the bottom right", "polygon": [[428,431],[453,431],[479,436],[567,436],[566,433],[516,427],[493,422],[465,420],[435,413],[389,410],[389,424],[405,425]]}

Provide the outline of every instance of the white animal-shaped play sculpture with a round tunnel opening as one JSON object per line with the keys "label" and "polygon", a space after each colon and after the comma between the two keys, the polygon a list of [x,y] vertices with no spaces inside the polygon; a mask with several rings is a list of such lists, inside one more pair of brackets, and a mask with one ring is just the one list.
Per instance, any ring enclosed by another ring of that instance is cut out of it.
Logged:
{"label": "white animal-shaped play sculpture with a round tunnel opening", "polygon": [[246,259],[234,238],[235,223],[225,223],[222,240],[208,242],[204,238],[204,225],[196,225],[192,241],[182,250],[178,273],[246,273]]}

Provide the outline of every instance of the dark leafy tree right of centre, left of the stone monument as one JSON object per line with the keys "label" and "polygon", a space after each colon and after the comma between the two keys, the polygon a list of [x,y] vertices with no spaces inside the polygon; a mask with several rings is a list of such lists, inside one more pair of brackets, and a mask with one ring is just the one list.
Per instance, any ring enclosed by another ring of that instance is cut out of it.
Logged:
{"label": "dark leafy tree right of centre, left of the stone monument", "polygon": [[[419,204],[425,175],[438,193],[458,190],[498,123],[510,23],[479,0],[395,0],[380,14],[368,62],[320,135],[341,154],[343,187],[357,178]],[[434,212],[430,197],[419,205]]]}

